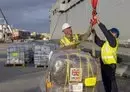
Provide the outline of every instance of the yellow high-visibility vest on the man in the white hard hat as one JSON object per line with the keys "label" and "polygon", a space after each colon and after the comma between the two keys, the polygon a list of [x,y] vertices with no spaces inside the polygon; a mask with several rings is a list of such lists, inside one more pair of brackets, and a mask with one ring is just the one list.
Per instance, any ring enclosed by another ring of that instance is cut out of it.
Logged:
{"label": "yellow high-visibility vest on the man in the white hard hat", "polygon": [[61,47],[64,47],[64,46],[69,46],[69,45],[73,45],[73,44],[77,44],[79,43],[79,37],[77,34],[74,34],[73,35],[73,40],[70,41],[67,37],[63,37],[61,40],[60,40],[60,45]]}

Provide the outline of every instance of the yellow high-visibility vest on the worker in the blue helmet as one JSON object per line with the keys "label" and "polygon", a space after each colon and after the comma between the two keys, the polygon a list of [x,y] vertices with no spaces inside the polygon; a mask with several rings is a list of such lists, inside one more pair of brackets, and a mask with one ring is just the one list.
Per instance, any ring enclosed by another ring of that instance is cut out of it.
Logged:
{"label": "yellow high-visibility vest on the worker in the blue helmet", "polygon": [[116,47],[111,47],[109,42],[106,41],[101,48],[101,58],[104,64],[116,64],[117,63],[117,50],[118,50],[118,40],[116,39]]}

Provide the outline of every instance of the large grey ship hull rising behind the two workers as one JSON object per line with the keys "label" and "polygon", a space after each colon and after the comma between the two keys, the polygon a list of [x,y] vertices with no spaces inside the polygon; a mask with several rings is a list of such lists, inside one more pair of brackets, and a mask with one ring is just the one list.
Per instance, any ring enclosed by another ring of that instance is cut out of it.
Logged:
{"label": "large grey ship hull rising behind the two workers", "polygon": [[[130,56],[130,0],[99,0],[97,13],[108,29],[117,27],[120,30],[120,48],[118,54]],[[91,0],[56,0],[50,9],[50,34],[52,39],[63,36],[62,25],[67,22],[74,33],[85,33],[92,14]],[[98,26],[97,34],[105,39]],[[92,40],[92,37],[89,38]]]}

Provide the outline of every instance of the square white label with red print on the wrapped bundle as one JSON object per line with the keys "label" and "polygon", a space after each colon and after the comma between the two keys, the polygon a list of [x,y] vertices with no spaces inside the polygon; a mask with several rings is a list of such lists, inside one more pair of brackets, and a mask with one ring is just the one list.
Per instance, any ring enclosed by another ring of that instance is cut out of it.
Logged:
{"label": "square white label with red print on the wrapped bundle", "polygon": [[82,80],[82,68],[70,68],[70,81]]}

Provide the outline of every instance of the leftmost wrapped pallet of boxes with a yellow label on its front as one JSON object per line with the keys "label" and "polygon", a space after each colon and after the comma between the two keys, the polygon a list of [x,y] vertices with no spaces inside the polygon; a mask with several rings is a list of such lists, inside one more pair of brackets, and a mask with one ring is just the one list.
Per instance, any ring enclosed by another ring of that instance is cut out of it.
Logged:
{"label": "leftmost wrapped pallet of boxes with a yellow label on its front", "polygon": [[25,66],[24,47],[19,44],[11,44],[7,48],[6,66]]}

